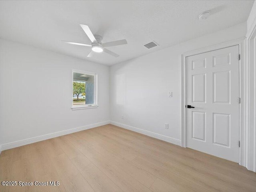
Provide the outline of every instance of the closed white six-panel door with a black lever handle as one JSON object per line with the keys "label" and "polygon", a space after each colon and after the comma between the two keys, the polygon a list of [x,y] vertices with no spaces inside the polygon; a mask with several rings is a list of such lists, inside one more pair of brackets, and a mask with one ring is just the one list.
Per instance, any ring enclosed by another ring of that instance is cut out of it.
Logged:
{"label": "closed white six-panel door with a black lever handle", "polygon": [[239,162],[239,46],[186,58],[186,146]]}

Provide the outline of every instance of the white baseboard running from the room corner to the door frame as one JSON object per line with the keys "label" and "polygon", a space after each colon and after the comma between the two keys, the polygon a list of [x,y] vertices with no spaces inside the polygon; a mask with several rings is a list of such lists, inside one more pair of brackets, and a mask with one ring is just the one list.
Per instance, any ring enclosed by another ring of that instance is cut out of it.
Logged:
{"label": "white baseboard running from the room corner to the door frame", "polygon": [[139,129],[136,127],[132,127],[132,126],[121,124],[121,123],[114,122],[114,121],[110,121],[110,124],[181,146],[181,140],[178,140],[178,139],[174,139],[174,138],[171,138],[168,136],[164,136],[164,135],[161,135],[158,133],[150,132],[147,130]]}

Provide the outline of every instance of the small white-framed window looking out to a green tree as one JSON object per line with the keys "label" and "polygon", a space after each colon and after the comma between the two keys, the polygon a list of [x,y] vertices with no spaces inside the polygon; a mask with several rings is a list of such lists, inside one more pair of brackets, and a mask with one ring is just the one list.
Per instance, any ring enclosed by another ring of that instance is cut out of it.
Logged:
{"label": "small white-framed window looking out to a green tree", "polygon": [[97,74],[72,70],[72,109],[96,108]]}

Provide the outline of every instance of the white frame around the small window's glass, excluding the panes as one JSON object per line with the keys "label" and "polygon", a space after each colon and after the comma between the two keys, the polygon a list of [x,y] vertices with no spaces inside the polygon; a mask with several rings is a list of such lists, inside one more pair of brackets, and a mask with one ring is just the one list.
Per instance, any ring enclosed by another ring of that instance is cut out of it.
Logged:
{"label": "white frame around the small window's glass, excluding the panes", "polygon": [[[73,81],[74,81],[74,73],[82,73],[86,75],[93,75],[94,76],[94,104],[85,104],[85,105],[73,105]],[[71,100],[71,109],[72,110],[81,110],[81,109],[91,109],[91,108],[98,108],[98,75],[93,72],[82,71],[72,69],[72,100]]]}

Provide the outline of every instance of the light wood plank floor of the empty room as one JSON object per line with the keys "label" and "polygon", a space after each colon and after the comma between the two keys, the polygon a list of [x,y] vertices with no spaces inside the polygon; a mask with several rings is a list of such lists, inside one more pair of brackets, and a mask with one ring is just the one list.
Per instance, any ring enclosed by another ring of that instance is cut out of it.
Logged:
{"label": "light wood plank floor of the empty room", "polygon": [[60,182],[1,192],[256,191],[256,173],[234,162],[113,125],[5,150],[0,181]]}

